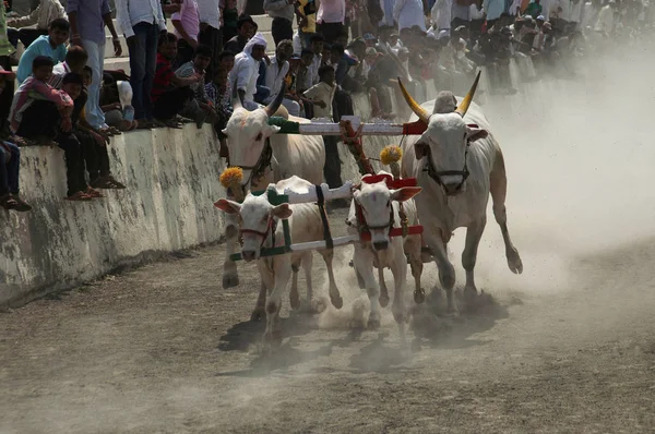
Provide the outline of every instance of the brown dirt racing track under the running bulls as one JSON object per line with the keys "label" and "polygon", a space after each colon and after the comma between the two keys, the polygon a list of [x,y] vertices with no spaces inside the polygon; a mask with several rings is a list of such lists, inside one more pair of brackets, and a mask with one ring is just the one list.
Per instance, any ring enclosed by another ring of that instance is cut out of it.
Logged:
{"label": "brown dirt racing track under the running bulls", "polygon": [[1,315],[0,432],[652,432],[650,244],[571,263],[565,291],[424,313],[414,351],[389,312],[348,330],[345,268],[344,317],[293,315],[269,359],[248,321],[254,267],[223,290],[223,250],[202,249]]}

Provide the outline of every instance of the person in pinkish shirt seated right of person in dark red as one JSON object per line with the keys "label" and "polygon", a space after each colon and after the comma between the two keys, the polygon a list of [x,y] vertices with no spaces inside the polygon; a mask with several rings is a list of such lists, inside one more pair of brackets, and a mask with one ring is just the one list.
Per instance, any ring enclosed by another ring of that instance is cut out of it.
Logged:
{"label": "person in pinkish shirt seated right of person in dark red", "polygon": [[207,99],[204,91],[205,70],[212,61],[212,47],[199,45],[195,48],[193,60],[182,64],[176,72],[179,79],[200,76],[201,81],[193,83],[190,87],[193,91],[193,98],[187,103],[182,109],[183,117],[194,119],[198,128],[202,128],[204,122],[213,123],[216,119],[216,111],[213,104]]}

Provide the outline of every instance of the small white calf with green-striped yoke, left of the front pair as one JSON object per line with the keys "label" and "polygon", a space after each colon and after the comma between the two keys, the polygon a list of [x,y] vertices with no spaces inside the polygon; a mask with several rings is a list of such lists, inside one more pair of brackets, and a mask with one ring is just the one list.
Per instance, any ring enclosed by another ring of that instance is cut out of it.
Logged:
{"label": "small white calf with green-striped yoke, left of the front pair", "polygon": [[[281,194],[284,193],[285,189],[290,189],[296,193],[307,193],[309,189],[313,189],[312,183],[295,176],[282,180],[274,185]],[[237,216],[241,222],[241,236],[243,239],[241,255],[246,262],[258,261],[258,269],[263,284],[253,315],[263,312],[265,309],[266,330],[264,333],[264,341],[278,340],[281,335],[277,328],[277,320],[282,306],[282,297],[291,277],[291,269],[294,269],[294,273],[297,273],[300,265],[305,269],[307,279],[306,305],[309,306],[311,304],[312,251],[261,257],[261,249],[284,244],[281,219],[288,219],[294,243],[323,240],[323,224],[319,207],[315,204],[282,204],[273,206],[267,201],[265,194],[254,196],[251,193],[246,196],[242,204],[222,198],[216,203],[216,207],[228,215]],[[318,252],[323,256],[325,266],[327,267],[327,278],[330,280],[329,293],[332,304],[341,309],[343,300],[334,280],[334,272],[332,269],[334,252],[327,249],[318,250]],[[294,309],[298,308],[297,284],[296,276],[294,276],[290,298],[291,308]],[[267,300],[266,292],[269,296]]]}

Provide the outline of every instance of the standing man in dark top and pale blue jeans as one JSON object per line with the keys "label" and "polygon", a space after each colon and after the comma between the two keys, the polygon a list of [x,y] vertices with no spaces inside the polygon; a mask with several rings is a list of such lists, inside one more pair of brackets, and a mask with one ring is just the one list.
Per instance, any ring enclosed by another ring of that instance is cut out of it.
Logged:
{"label": "standing man in dark top and pale blue jeans", "polygon": [[86,121],[96,130],[107,131],[105,112],[100,108],[100,84],[105,65],[105,25],[111,33],[114,51],[122,53],[118,34],[114,28],[109,0],[68,0],[67,12],[71,23],[71,43],[84,47],[88,65],[93,70],[93,82],[88,88]]}

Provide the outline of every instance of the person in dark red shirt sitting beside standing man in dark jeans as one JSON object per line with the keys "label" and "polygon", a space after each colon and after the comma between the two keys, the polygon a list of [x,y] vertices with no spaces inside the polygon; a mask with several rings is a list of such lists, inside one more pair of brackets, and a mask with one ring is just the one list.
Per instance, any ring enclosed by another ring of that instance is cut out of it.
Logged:
{"label": "person in dark red shirt sitting beside standing man in dark jeans", "polygon": [[175,59],[176,53],[177,37],[172,33],[162,36],[151,96],[155,118],[170,128],[180,126],[174,118],[182,111],[189,99],[193,97],[193,91],[189,86],[199,83],[201,80],[199,74],[187,79],[180,79],[175,74],[170,62]]}

